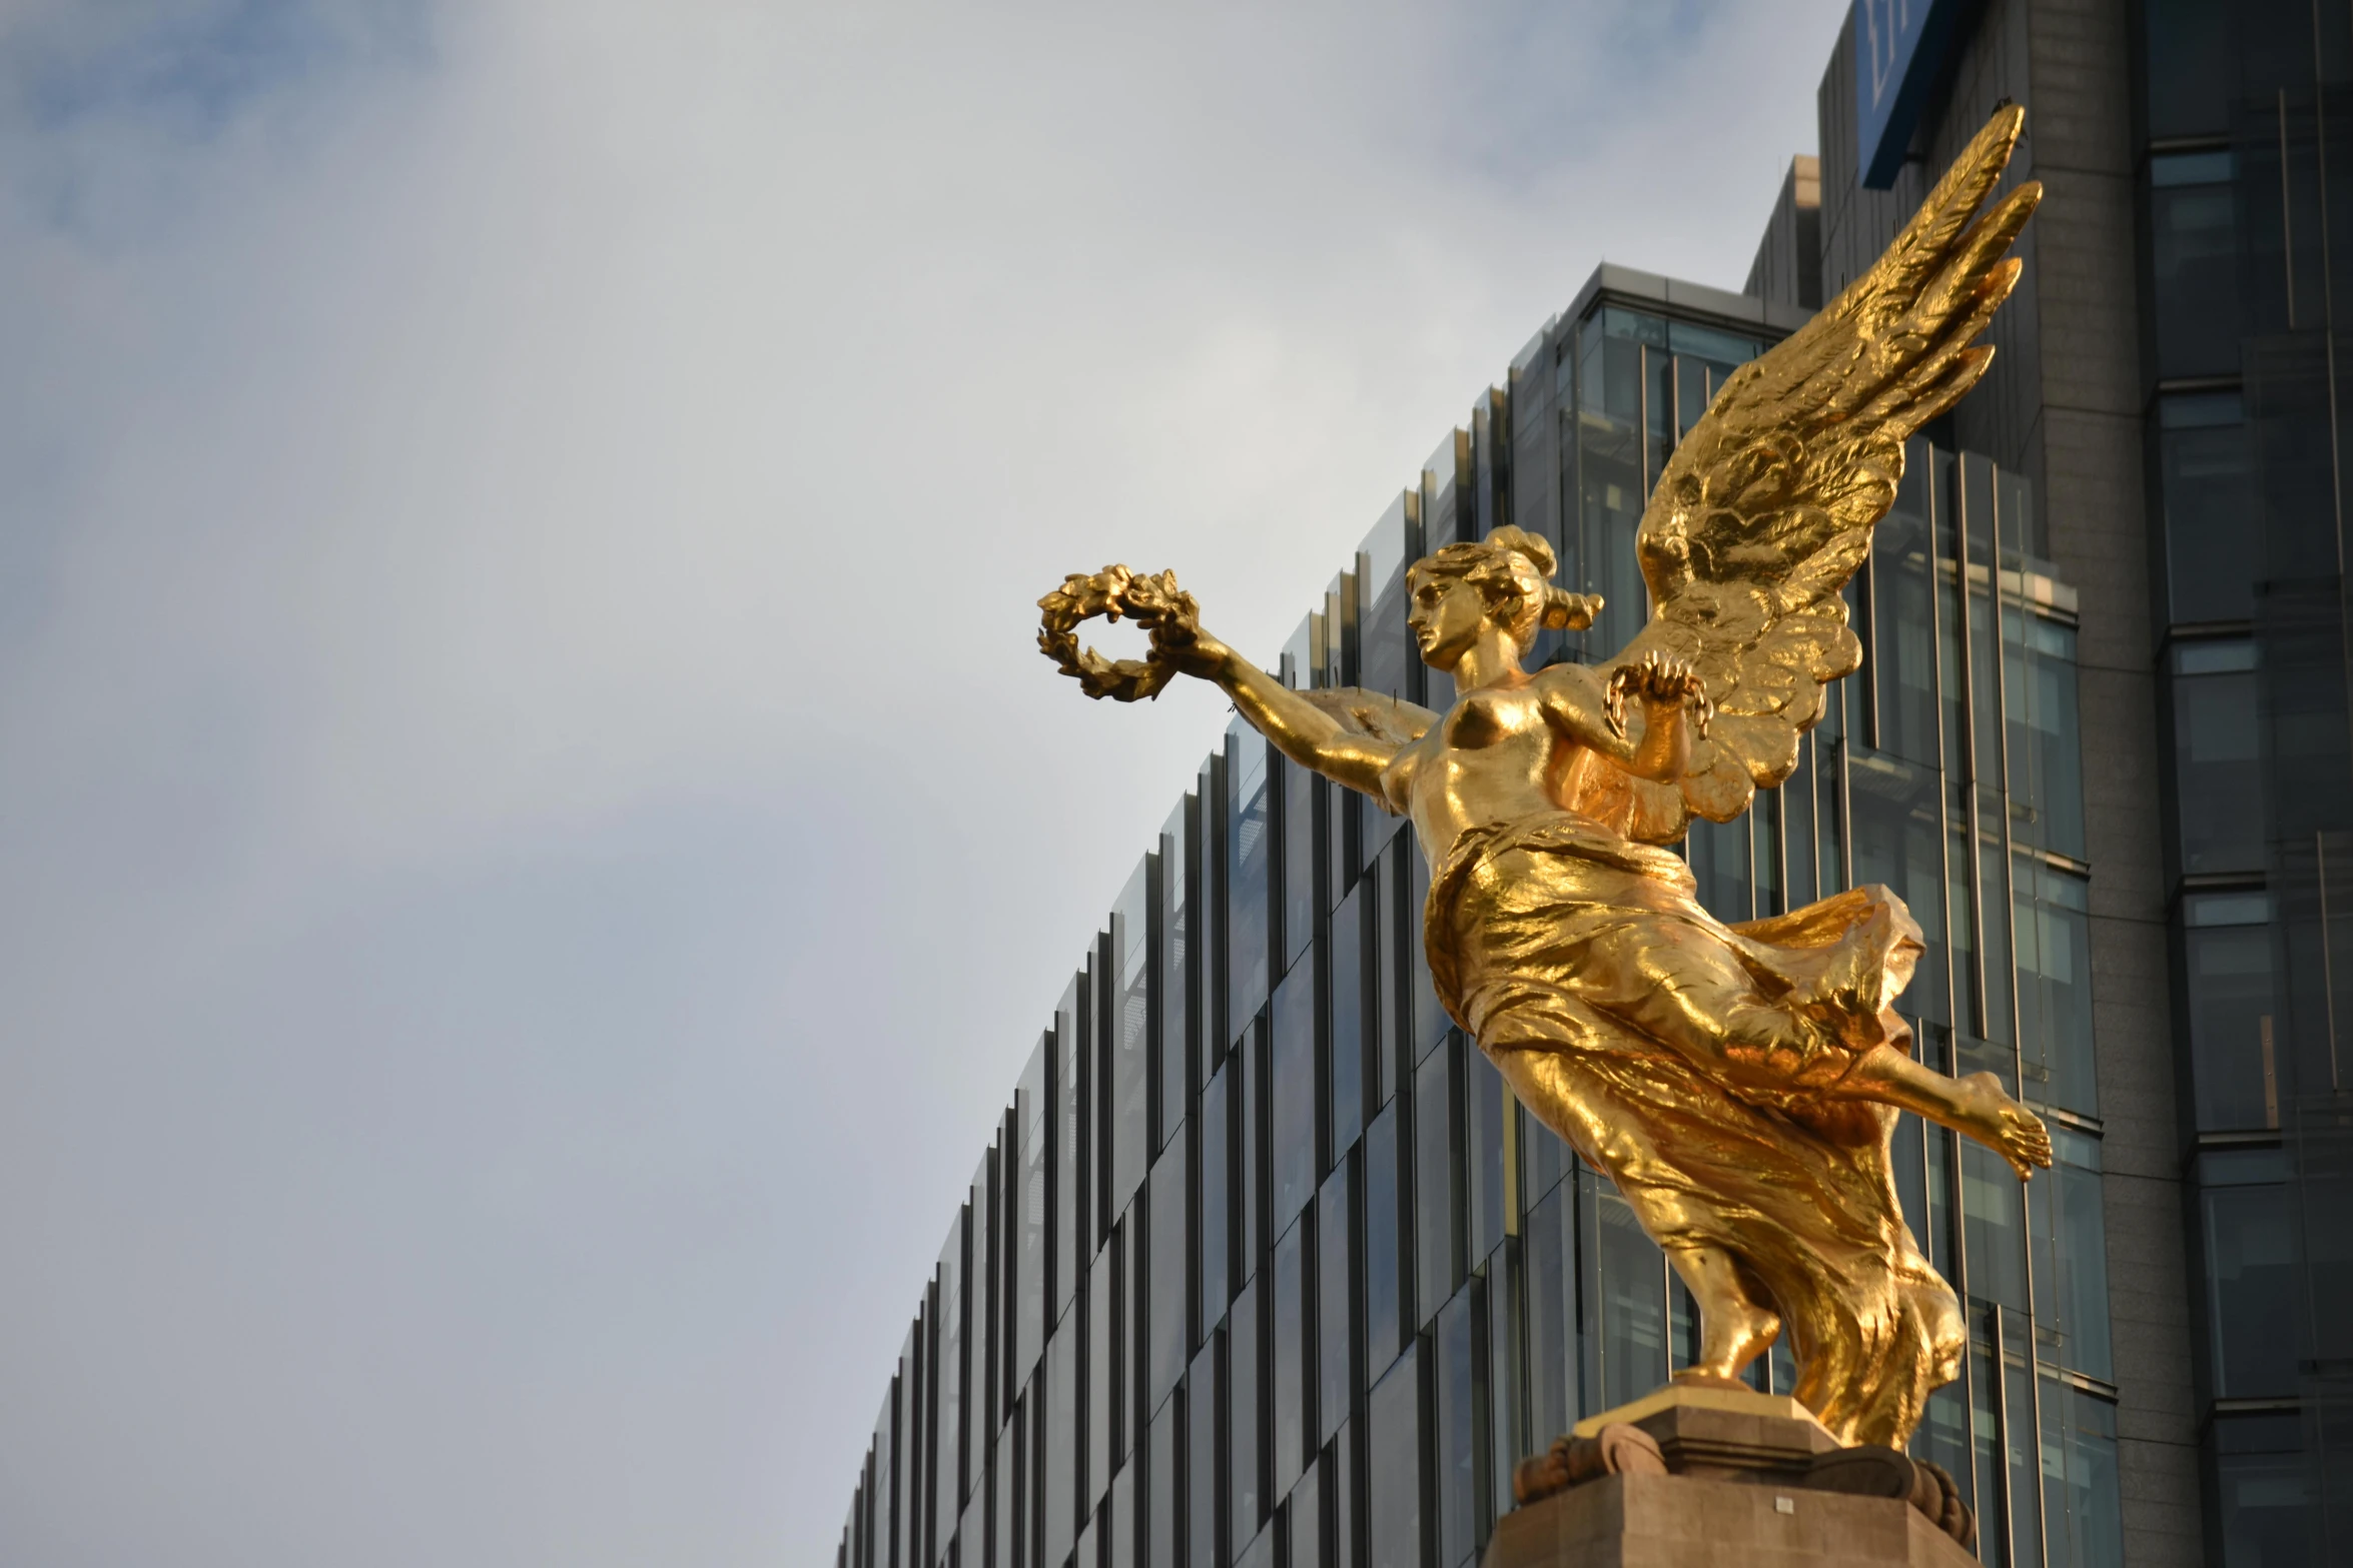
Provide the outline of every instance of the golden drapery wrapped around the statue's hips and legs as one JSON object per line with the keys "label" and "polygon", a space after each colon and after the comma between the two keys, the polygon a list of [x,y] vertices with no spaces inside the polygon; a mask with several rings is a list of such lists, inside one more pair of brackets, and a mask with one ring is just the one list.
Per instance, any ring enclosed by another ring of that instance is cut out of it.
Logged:
{"label": "golden drapery wrapped around the statue's hips and legs", "polygon": [[1715,1246],[1781,1314],[1798,1399],[1901,1446],[1960,1368],[1953,1288],[1904,1225],[1897,1112],[1821,1091],[1922,952],[1882,886],[1727,926],[1673,853],[1546,813],[1466,832],[1431,877],[1438,997],[1661,1246]]}

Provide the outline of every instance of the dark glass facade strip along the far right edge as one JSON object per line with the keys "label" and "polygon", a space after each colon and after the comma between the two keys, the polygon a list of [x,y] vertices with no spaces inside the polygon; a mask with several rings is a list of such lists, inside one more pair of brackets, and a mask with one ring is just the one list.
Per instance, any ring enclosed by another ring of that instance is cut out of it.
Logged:
{"label": "dark glass facade strip along the far right edge", "polygon": [[[2144,0],[2148,524],[2207,1559],[2353,1561],[2353,14]],[[2332,176],[2332,169],[2337,174]]]}

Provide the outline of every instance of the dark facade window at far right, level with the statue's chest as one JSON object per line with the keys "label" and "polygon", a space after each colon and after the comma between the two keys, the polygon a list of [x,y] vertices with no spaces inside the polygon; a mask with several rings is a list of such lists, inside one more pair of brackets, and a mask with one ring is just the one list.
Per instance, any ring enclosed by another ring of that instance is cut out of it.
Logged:
{"label": "dark facade window at far right, level with the statue's chest", "polygon": [[2172,665],[2181,870],[2261,870],[2266,811],[2254,644],[2184,642]]}

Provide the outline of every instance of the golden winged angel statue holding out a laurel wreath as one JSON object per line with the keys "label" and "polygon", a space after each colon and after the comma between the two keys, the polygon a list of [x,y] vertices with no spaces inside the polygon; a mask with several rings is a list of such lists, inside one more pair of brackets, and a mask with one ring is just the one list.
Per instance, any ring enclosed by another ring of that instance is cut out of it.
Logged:
{"label": "golden winged angel statue holding out a laurel wreath", "polygon": [[[1854,287],[1725,381],[1659,475],[1638,534],[1654,614],[1607,665],[1520,665],[1539,625],[1591,625],[1600,602],[1555,588],[1551,548],[1513,527],[1407,574],[1421,658],[1454,677],[1445,715],[1282,686],[1169,574],[1113,567],[1040,602],[1040,642],[1089,693],[1212,679],[1285,757],[1412,818],[1438,994],[1692,1288],[1682,1375],[1734,1380],[1786,1333],[1798,1399],[1845,1443],[1904,1446],[1965,1342],[1897,1204],[1897,1112],[2019,1178],[2049,1135],[1993,1074],[1913,1060],[1889,1004],[1922,938],[1892,891],[1725,924],[1664,846],[1788,778],[1824,686],[1861,665],[1842,588],[1906,437],[1986,371],[1972,339],[2019,280],[2040,186],[1979,207],[2021,120],[1998,113]],[[1151,658],[1078,649],[1089,614],[1148,625]]]}

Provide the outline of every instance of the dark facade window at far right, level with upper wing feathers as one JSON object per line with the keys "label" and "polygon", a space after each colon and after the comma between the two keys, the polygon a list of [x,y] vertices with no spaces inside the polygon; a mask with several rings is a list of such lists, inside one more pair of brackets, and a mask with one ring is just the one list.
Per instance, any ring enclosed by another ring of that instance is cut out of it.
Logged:
{"label": "dark facade window at far right, level with upper wing feathers", "polygon": [[2158,378],[2238,374],[2238,202],[2231,153],[2148,160]]}

